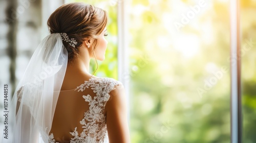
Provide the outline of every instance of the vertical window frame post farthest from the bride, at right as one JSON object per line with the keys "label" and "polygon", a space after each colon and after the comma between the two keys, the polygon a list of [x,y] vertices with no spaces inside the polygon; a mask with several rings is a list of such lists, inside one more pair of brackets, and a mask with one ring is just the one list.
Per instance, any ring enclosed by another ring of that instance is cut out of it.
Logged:
{"label": "vertical window frame post farthest from the bride, at right", "polygon": [[[230,140],[242,142],[242,98],[241,98],[241,34],[240,1],[233,0],[230,5]],[[233,60],[235,59],[235,60]]]}

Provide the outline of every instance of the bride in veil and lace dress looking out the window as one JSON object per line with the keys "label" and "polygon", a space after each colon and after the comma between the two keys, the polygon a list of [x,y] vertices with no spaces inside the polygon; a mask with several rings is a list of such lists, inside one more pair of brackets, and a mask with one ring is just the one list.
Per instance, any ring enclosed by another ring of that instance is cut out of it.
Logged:
{"label": "bride in veil and lace dress looking out the window", "polygon": [[124,87],[89,73],[104,60],[106,11],[84,3],[59,7],[12,99],[2,142],[130,142]]}

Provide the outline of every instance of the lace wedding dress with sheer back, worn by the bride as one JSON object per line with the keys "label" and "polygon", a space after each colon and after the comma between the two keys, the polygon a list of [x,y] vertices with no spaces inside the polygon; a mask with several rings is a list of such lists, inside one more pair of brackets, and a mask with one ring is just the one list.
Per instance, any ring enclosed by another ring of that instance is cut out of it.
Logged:
{"label": "lace wedding dress with sheer back, worn by the bride", "polygon": [[[90,78],[75,89],[61,90],[52,123],[55,130],[51,130],[48,138],[43,137],[42,140],[49,143],[109,142],[104,109],[106,102],[110,100],[109,93],[116,85],[122,83],[112,78]],[[18,96],[19,100],[21,98]],[[67,132],[70,137],[63,136],[67,135]],[[55,136],[55,133],[60,136]]]}

